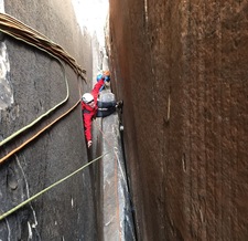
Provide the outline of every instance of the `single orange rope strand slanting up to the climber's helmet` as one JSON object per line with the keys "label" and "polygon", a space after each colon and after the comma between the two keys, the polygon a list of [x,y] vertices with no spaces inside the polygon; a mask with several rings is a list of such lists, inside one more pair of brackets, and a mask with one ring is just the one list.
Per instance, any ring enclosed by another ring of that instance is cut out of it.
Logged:
{"label": "single orange rope strand slanting up to the climber's helmet", "polygon": [[50,123],[47,126],[45,126],[44,128],[42,128],[40,132],[37,132],[35,135],[33,135],[31,138],[29,138],[28,140],[25,140],[23,144],[21,144],[19,147],[17,147],[15,149],[13,149],[12,151],[10,151],[9,154],[7,154],[4,157],[2,157],[0,159],[0,164],[2,164],[6,159],[8,159],[9,157],[11,157],[13,154],[15,154],[17,151],[19,151],[20,149],[22,149],[24,146],[26,146],[29,143],[31,143],[33,139],[35,139],[37,136],[40,136],[43,132],[45,132],[47,128],[50,128],[52,125],[54,125],[56,122],[58,122],[61,118],[63,118],[64,116],[66,116],[69,112],[72,112],[78,104],[80,103],[80,101],[78,101],[73,107],[71,107],[68,111],[66,111],[65,113],[63,113],[61,116],[58,116],[56,119],[54,119],[52,123]]}

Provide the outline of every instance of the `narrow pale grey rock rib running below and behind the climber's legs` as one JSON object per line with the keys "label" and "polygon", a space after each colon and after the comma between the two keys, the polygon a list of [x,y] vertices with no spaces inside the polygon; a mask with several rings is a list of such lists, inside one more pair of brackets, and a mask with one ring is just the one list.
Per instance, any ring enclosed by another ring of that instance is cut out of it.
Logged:
{"label": "narrow pale grey rock rib running below and behind the climber's legs", "polygon": [[[100,101],[115,101],[115,95],[103,91]],[[129,185],[121,148],[118,113],[103,118],[103,157],[100,163],[99,196],[103,240],[136,240]]]}

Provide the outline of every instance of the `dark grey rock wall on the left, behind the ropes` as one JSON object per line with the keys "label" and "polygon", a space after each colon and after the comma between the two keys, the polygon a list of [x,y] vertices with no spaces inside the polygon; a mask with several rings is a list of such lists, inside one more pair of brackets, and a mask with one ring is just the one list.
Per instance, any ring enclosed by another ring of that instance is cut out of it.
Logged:
{"label": "dark grey rock wall on the left, behind the ropes", "polygon": [[[80,32],[69,0],[63,3],[60,0],[7,0],[4,11],[64,48],[89,72],[86,77],[90,78],[90,39]],[[63,62],[64,75],[58,61],[45,52],[11,36],[1,36],[7,46],[8,77],[13,93],[12,102],[0,111],[1,142],[65,99],[65,75],[68,81],[68,99],[39,124],[1,146],[2,158],[73,107],[83,88],[91,85],[78,78],[68,64]],[[68,115],[1,163],[0,214],[87,161],[82,111],[76,105]],[[91,178],[89,169],[85,169],[1,220],[0,240],[96,240]]]}

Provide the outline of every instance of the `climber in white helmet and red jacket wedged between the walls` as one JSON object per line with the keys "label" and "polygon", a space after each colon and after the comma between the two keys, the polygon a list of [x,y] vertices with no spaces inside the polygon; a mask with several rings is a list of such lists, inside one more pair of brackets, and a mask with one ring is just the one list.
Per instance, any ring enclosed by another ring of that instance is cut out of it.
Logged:
{"label": "climber in white helmet and red jacket wedged between the walls", "polygon": [[105,82],[110,82],[109,71],[105,71],[101,76],[97,77],[97,83],[95,84],[90,93],[85,93],[82,96],[82,112],[85,129],[85,138],[88,148],[93,144],[91,139],[91,123],[96,117],[106,117],[111,115],[116,108],[122,108],[123,102],[100,102],[97,99],[100,88],[105,85]]}

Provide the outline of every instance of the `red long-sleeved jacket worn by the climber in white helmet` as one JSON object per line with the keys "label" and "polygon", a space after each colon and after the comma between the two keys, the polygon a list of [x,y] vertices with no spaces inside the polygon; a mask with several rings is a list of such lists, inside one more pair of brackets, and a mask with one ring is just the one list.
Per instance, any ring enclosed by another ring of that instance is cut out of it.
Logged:
{"label": "red long-sleeved jacket worn by the climber in white helmet", "polygon": [[84,119],[84,128],[85,128],[85,137],[86,140],[91,140],[91,123],[93,123],[93,118],[96,117],[97,114],[97,97],[100,91],[100,87],[105,84],[104,80],[101,78],[100,81],[98,81],[93,91],[91,91],[91,95],[94,96],[94,103],[95,103],[95,107],[91,108],[89,105],[85,104],[83,101],[80,102],[82,104],[82,112],[83,112],[83,119]]}

